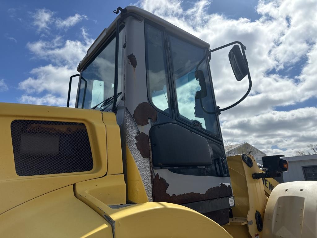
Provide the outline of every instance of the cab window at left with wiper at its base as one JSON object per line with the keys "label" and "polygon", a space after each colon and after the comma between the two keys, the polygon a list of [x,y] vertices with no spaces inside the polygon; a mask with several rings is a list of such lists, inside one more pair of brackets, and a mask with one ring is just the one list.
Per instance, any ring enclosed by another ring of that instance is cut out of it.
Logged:
{"label": "cab window at left with wiper at its base", "polygon": [[[123,27],[122,27],[123,28]],[[122,82],[122,29],[119,34],[119,64],[118,64],[118,92]],[[113,96],[114,61],[115,61],[115,33],[102,46],[100,53],[81,72],[78,108],[91,109],[98,103]],[[120,100],[118,100],[120,102]],[[118,103],[119,103],[118,102]],[[111,109],[112,104],[100,104],[105,111]]]}

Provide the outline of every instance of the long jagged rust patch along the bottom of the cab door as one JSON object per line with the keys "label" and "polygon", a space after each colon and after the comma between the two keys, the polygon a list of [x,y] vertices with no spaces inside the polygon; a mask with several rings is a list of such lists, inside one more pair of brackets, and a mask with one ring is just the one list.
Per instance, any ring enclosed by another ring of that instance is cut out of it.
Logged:
{"label": "long jagged rust patch along the bottom of the cab door", "polygon": [[176,204],[183,204],[232,196],[231,187],[223,183],[219,187],[209,188],[204,194],[191,192],[180,195],[169,195],[166,193],[168,186],[169,184],[165,181],[164,178],[160,178],[159,174],[155,175],[153,179],[154,202],[171,202]]}

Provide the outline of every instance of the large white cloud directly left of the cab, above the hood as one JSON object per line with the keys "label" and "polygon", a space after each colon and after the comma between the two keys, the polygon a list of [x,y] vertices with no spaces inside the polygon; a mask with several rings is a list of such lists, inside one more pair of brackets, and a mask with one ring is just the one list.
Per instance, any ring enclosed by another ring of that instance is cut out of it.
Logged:
{"label": "large white cloud directly left of the cab, above the hood", "polygon": [[[77,65],[93,43],[82,29],[82,40],[63,40],[56,36],[51,41],[28,43],[27,47],[36,58],[49,62],[48,65],[30,71],[32,76],[19,83],[25,93],[19,99],[23,103],[65,106],[68,95],[69,76],[77,74]],[[76,80],[72,83],[70,105],[75,104]]]}

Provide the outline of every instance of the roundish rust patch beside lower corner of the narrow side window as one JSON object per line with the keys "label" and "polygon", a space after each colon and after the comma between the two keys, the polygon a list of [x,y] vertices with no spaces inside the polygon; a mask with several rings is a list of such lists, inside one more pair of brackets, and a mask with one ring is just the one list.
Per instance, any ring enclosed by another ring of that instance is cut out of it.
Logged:
{"label": "roundish rust patch beside lower corner of the narrow side window", "polygon": [[148,124],[148,119],[152,119],[153,122],[157,120],[157,112],[150,103],[141,102],[134,110],[133,118],[138,125],[145,126]]}

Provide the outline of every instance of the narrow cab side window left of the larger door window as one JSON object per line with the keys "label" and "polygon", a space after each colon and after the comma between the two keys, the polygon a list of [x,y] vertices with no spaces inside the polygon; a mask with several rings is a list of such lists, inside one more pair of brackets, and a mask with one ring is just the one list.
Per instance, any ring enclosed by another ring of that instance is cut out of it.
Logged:
{"label": "narrow cab side window left of the larger door window", "polygon": [[149,24],[145,24],[145,54],[148,96],[155,107],[171,114],[164,33]]}

